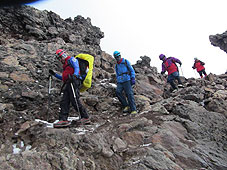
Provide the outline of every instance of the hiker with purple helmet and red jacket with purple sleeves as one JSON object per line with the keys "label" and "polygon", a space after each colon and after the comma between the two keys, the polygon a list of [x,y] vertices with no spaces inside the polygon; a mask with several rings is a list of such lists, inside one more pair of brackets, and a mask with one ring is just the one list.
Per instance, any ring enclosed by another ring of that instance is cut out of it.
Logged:
{"label": "hiker with purple helmet and red jacket with purple sleeves", "polygon": [[178,63],[181,66],[182,65],[181,61],[174,57],[166,58],[164,54],[160,54],[159,59],[163,61],[161,74],[164,74],[166,71],[168,72],[167,82],[170,83],[172,90],[175,91],[177,89],[174,83],[175,79],[178,81],[178,87],[182,88],[183,85],[180,80],[178,67],[176,65],[176,63]]}

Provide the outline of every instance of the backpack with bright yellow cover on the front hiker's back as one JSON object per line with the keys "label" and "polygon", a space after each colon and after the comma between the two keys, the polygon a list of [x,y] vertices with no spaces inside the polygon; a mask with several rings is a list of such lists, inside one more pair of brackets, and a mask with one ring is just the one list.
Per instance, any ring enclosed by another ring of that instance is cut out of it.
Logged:
{"label": "backpack with bright yellow cover on the front hiker's back", "polygon": [[94,57],[90,54],[78,54],[75,58],[79,62],[80,74],[86,75],[80,88],[80,92],[83,93],[91,87]]}

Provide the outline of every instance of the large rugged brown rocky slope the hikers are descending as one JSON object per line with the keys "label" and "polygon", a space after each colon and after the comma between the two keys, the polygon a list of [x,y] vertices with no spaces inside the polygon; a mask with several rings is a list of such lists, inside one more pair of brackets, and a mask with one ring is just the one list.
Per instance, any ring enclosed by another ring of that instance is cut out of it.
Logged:
{"label": "large rugged brown rocky slope the hikers are descending", "polygon": [[[170,93],[166,76],[142,56],[133,66],[139,113],[125,116],[115,95],[115,61],[101,50],[104,34],[89,18],[63,20],[27,6],[0,13],[1,169],[227,169],[226,74],[181,77],[185,87]],[[50,126],[62,84],[54,79],[48,96],[48,69],[61,71],[58,48],[95,57],[92,88],[81,94],[91,125]]]}

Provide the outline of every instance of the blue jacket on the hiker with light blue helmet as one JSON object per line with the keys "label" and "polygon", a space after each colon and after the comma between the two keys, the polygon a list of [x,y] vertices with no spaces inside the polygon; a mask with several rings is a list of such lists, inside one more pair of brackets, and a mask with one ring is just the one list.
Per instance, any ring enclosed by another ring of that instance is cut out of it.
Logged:
{"label": "blue jacket on the hiker with light blue helmet", "polygon": [[120,64],[115,65],[115,71],[116,71],[116,76],[117,76],[117,83],[123,83],[126,81],[130,81],[131,78],[135,79],[135,71],[133,67],[131,66],[130,62],[126,60],[127,66],[125,65],[125,60],[122,58],[122,61]]}

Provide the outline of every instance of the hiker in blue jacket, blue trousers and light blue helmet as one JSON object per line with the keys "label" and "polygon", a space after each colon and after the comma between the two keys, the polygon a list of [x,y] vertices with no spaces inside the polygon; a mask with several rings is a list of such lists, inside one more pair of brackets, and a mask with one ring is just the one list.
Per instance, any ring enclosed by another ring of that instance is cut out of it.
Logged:
{"label": "hiker in blue jacket, blue trousers and light blue helmet", "polygon": [[[136,114],[136,104],[132,89],[132,86],[135,85],[135,71],[128,60],[121,58],[120,52],[114,51],[113,56],[117,61],[115,65],[117,78],[116,95],[121,102],[124,113],[130,111],[131,114]],[[123,91],[127,96],[127,100],[123,95]]]}

